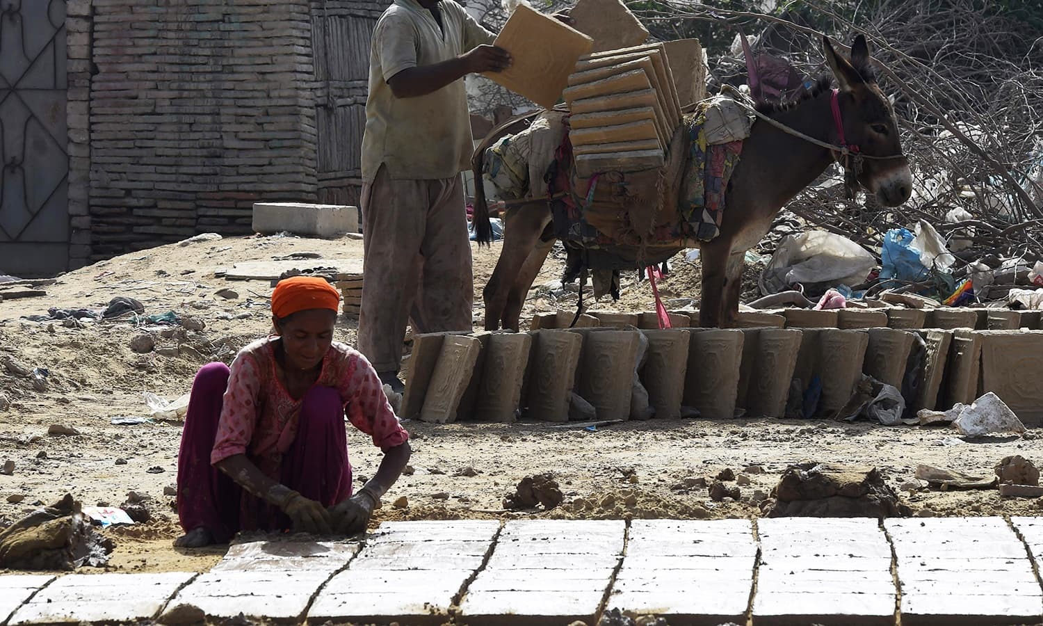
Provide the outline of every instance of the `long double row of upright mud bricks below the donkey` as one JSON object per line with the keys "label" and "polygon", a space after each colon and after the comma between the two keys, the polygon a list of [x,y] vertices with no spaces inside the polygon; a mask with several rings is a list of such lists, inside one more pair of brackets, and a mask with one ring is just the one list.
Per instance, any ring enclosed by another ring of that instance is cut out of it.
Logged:
{"label": "long double row of upright mud bricks below the donkey", "polygon": [[[817,417],[836,417],[865,374],[902,389],[915,410],[999,395],[1026,426],[1043,420],[1039,311],[785,310],[739,314],[737,330],[690,328],[698,312],[537,315],[528,333],[414,337],[401,416],[426,422],[567,422],[573,392],[598,419],[626,419],[636,375],[657,417],[682,407],[722,419],[782,417],[799,380],[819,378]],[[648,339],[638,368],[639,334]],[[908,385],[906,385],[908,388]]]}

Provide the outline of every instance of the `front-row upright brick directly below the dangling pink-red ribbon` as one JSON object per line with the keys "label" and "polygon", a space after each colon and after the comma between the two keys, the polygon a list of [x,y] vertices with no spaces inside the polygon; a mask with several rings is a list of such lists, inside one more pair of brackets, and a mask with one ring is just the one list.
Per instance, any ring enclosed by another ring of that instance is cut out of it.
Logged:
{"label": "front-row upright brick directly below the dangling pink-red ribbon", "polygon": [[[685,371],[688,368],[690,334],[685,330],[645,331],[649,347],[640,380],[649,392],[655,416],[681,417]],[[737,367],[736,367],[737,369]]]}

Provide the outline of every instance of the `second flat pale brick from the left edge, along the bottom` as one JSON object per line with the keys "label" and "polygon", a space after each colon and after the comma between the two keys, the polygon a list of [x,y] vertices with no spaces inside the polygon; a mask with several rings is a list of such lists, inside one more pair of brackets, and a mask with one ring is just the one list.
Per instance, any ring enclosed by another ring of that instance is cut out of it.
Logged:
{"label": "second flat pale brick from the left edge, along the bottom", "polygon": [[69,574],[54,580],[7,622],[78,624],[149,620],[194,573]]}

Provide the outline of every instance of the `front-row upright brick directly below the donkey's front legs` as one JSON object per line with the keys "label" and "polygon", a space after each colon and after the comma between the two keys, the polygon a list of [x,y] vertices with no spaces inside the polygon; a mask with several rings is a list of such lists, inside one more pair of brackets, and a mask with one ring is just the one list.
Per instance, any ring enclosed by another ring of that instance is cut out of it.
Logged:
{"label": "front-row upright brick directly below the donkey's front legs", "polygon": [[735,416],[745,335],[738,330],[693,330],[684,378],[686,407],[703,417]]}

